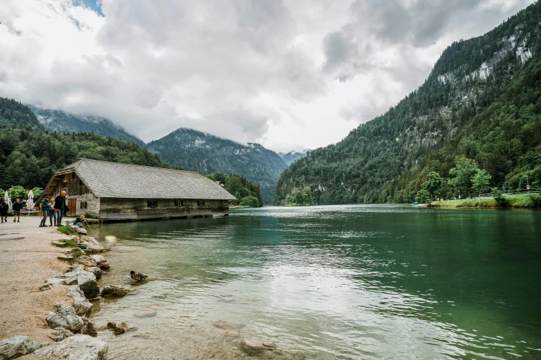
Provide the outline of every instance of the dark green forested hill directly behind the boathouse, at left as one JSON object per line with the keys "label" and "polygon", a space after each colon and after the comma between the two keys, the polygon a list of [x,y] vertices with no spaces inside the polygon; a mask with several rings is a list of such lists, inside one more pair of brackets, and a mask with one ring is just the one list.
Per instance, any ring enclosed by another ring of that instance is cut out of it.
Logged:
{"label": "dark green forested hill directly behind the boathouse, at left", "polygon": [[0,127],[0,189],[43,188],[51,175],[86,159],[169,168],[160,158],[129,141],[96,134],[63,134],[37,128]]}

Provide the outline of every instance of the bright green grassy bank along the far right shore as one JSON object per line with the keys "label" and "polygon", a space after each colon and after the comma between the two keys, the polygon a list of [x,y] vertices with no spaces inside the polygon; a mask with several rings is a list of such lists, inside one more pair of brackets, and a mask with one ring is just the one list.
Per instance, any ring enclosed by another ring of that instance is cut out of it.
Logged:
{"label": "bright green grassy bank along the far right shore", "polygon": [[506,195],[500,201],[493,197],[435,201],[430,205],[436,208],[540,208],[541,194]]}

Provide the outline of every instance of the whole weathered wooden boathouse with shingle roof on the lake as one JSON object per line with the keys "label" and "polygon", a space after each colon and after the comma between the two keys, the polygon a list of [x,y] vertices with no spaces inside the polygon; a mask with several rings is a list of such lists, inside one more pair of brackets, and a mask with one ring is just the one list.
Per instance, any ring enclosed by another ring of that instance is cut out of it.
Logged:
{"label": "whole weathered wooden boathouse with shingle roof on the lake", "polygon": [[66,191],[68,216],[137,221],[229,214],[236,198],[197,172],[79,159],[56,172],[46,195]]}

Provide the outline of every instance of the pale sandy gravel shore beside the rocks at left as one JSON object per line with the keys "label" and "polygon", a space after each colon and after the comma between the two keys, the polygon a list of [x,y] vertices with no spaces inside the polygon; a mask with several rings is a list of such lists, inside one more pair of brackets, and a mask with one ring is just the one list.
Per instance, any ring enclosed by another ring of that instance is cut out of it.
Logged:
{"label": "pale sandy gravel shore beside the rocks at left", "polygon": [[54,270],[68,268],[57,259],[64,250],[50,244],[66,239],[66,235],[54,226],[39,228],[40,220],[21,217],[20,223],[14,223],[8,217],[7,223],[0,223],[0,339],[28,335],[40,342],[53,342],[47,337],[48,312],[56,311],[55,303],[73,304],[65,287],[39,290]]}

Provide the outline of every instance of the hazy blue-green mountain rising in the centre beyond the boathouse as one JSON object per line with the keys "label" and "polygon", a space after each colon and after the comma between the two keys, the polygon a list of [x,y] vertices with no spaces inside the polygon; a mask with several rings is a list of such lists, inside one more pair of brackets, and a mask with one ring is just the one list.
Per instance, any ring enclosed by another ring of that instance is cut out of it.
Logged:
{"label": "hazy blue-green mountain rising in the centre beyond the boathouse", "polygon": [[196,130],[180,128],[147,144],[160,159],[186,170],[205,174],[242,174],[260,184],[263,201],[272,202],[274,187],[287,164],[272,150],[257,143],[243,145]]}

